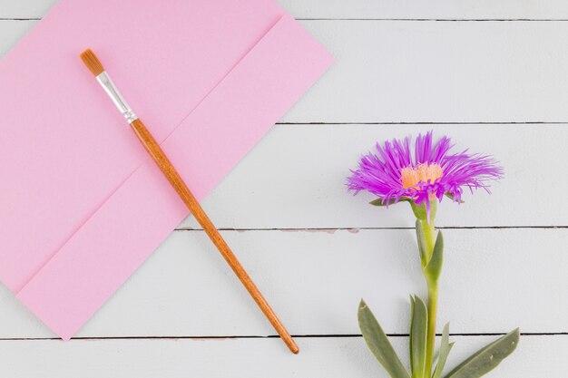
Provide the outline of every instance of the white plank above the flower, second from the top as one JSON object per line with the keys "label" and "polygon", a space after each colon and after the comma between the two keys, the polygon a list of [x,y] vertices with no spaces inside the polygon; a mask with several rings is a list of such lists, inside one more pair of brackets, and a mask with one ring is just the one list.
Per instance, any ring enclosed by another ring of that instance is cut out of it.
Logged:
{"label": "white plank above the flower, second from the top", "polygon": [[302,24],[337,61],[285,122],[568,121],[568,23]]}

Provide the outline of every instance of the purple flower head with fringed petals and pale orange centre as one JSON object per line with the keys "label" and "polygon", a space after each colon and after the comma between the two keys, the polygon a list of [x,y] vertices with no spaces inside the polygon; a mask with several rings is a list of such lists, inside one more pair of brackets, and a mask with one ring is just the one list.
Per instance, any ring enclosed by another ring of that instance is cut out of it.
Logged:
{"label": "purple flower head with fringed petals and pale orange centre", "polygon": [[384,205],[401,199],[414,201],[417,205],[429,200],[442,200],[445,195],[461,202],[464,188],[483,188],[489,192],[487,181],[503,177],[503,169],[495,165],[489,156],[468,154],[467,150],[451,154],[451,140],[444,136],[436,144],[432,131],[418,135],[414,144],[414,156],[410,149],[411,139],[377,143],[378,154],[368,153],[361,158],[357,170],[351,170],[348,189],[367,190],[382,199]]}

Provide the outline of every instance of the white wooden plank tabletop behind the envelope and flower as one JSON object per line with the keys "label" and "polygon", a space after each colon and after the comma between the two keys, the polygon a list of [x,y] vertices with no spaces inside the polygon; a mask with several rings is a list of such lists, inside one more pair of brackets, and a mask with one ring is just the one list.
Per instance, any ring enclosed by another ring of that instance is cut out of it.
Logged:
{"label": "white wooden plank tabletop behind the envelope and flower", "polygon": [[[0,55],[54,3],[0,0]],[[301,353],[275,337],[190,218],[70,342],[0,286],[0,377],[386,377],[357,303],[366,298],[406,356],[408,294],[425,296],[413,220],[405,205],[367,206],[344,182],[375,141],[428,130],[506,170],[493,196],[439,210],[449,364],[520,326],[519,348],[488,376],[563,376],[568,2],[280,3],[337,62],[204,207]],[[40,227],[30,219],[30,233]]]}

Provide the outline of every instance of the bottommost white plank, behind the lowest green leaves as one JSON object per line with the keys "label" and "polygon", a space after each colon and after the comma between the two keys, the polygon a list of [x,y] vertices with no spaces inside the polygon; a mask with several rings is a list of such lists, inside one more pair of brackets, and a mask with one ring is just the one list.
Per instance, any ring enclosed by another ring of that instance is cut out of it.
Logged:
{"label": "bottommost white plank, behind the lowest green leaves", "polygon": [[[456,344],[447,372],[494,339],[451,337]],[[302,352],[293,355],[276,339],[4,341],[0,369],[11,378],[387,378],[361,337],[308,338],[299,344]],[[395,338],[393,344],[407,365],[406,337]],[[566,348],[566,335],[523,337],[514,354],[487,377],[558,376],[568,369]]]}

